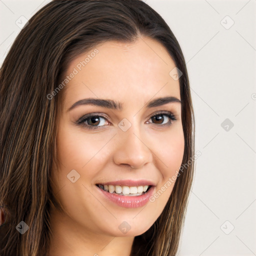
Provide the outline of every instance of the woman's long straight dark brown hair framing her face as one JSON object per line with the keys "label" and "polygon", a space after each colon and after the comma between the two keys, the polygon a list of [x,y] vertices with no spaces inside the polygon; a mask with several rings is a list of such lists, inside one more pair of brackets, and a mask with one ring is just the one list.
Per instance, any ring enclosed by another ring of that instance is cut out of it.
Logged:
{"label": "woman's long straight dark brown hair framing her face", "polygon": [[[160,42],[182,72],[186,168],[179,169],[160,216],[135,236],[131,255],[176,254],[194,169],[194,114],[181,48],[162,17],[141,0],[53,0],[29,19],[0,68],[0,205],[7,205],[0,227],[1,255],[46,255],[50,209],[61,208],[50,173],[58,166],[56,134],[63,90],[51,99],[47,95],[75,56],[108,40],[134,42],[141,35]],[[20,221],[29,226],[24,234],[16,230]]]}

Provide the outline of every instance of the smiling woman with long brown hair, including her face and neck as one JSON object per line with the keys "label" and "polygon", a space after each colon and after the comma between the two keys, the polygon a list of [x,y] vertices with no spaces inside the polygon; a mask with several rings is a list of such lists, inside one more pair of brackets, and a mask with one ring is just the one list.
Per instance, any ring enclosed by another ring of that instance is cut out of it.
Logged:
{"label": "smiling woman with long brown hair, including her face and neck", "polygon": [[16,37],[0,83],[1,255],[176,254],[194,116],[158,13],[53,0]]}

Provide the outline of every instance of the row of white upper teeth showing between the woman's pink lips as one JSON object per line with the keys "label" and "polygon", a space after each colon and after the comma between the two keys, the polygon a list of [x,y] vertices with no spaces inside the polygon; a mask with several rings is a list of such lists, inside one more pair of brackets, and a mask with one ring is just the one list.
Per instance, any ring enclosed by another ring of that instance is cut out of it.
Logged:
{"label": "row of white upper teeth showing between the woman's pink lips", "polygon": [[96,184],[100,189],[108,192],[125,196],[138,196],[145,194],[151,187],[151,185],[140,186],[120,186],[120,185],[102,185]]}

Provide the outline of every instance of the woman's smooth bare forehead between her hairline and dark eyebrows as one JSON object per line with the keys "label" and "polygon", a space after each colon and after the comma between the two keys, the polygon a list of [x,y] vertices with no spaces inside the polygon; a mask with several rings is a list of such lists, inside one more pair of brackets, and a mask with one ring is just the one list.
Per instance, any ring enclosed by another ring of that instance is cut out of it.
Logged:
{"label": "woman's smooth bare forehead between her hairline and dark eyebrows", "polygon": [[[148,37],[133,43],[107,41],[80,54],[68,65],[75,72],[65,90],[65,103],[84,97],[104,97],[121,102],[166,94],[180,98],[179,81],[169,72],[175,68],[165,47]],[[125,105],[125,104],[124,104]]]}

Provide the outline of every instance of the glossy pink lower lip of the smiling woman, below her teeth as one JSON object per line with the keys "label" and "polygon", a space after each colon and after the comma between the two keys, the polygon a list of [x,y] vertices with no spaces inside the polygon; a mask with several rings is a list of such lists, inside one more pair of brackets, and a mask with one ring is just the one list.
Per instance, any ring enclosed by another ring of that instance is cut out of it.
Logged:
{"label": "glossy pink lower lip of the smiling woman, below her teeth", "polygon": [[98,186],[96,186],[99,191],[102,193],[104,198],[106,198],[110,202],[114,202],[115,204],[125,207],[125,208],[137,208],[144,206],[149,197],[153,194],[154,186],[151,186],[148,191],[144,194],[137,195],[137,196],[129,196],[129,195],[120,195],[116,193],[109,193]]}

